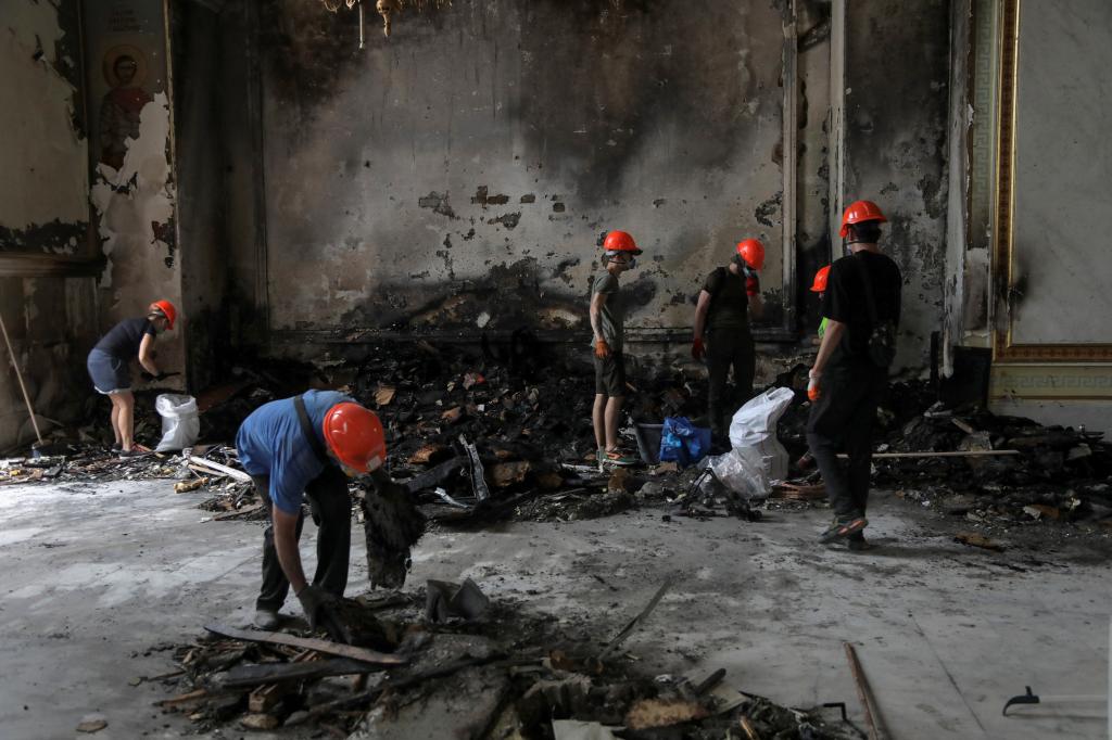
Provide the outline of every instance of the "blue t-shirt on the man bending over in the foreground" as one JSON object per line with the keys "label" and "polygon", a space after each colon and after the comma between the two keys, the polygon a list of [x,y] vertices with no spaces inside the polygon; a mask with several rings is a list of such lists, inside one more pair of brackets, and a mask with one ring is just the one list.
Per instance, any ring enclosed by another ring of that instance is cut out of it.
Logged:
{"label": "blue t-shirt on the man bending over in the foreground", "polygon": [[[337,403],[351,399],[336,391],[317,390],[306,391],[301,398],[312,433],[324,446],[325,414]],[[325,470],[325,463],[301,431],[292,398],[264,403],[244,419],[236,434],[236,449],[249,474],[270,476],[270,500],[288,514],[301,510],[305,487]]]}

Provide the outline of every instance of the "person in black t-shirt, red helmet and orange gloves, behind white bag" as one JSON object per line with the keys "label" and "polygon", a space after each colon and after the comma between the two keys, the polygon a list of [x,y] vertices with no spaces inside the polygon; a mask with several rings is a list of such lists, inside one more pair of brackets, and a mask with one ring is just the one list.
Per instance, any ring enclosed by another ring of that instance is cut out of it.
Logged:
{"label": "person in black t-shirt, red helmet and orange gloves, behind white bag", "polygon": [[[707,417],[715,448],[728,447],[729,421],[743,403],[753,396],[756,349],[749,333],[749,313],[761,317],[761,280],[757,271],[764,267],[764,244],[745,239],[737,244],[728,267],[714,270],[706,278],[695,307],[695,340],[692,357],[706,357],[709,392]],[[726,380],[734,369],[736,393],[726,394]]]}

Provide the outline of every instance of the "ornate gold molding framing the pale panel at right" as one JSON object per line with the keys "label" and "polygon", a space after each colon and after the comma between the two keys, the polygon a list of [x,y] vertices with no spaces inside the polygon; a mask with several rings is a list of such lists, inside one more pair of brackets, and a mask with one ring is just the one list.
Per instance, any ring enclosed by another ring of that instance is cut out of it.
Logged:
{"label": "ornate gold molding framing the pale panel at right", "polygon": [[1112,344],[1019,344],[1013,341],[1014,289],[1012,220],[1015,206],[1015,126],[1019,83],[1021,0],[1001,0],[996,114],[996,203],[993,219],[993,362],[1110,362]]}

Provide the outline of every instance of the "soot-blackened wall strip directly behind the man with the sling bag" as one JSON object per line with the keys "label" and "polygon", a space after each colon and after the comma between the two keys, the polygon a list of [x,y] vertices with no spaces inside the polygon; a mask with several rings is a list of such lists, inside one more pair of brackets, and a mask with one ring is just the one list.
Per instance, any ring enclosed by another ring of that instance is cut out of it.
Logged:
{"label": "soot-blackened wall strip directly behind the man with the sling bag", "polygon": [[896,363],[923,367],[946,269],[949,0],[846,3],[845,201],[876,201],[904,276]]}

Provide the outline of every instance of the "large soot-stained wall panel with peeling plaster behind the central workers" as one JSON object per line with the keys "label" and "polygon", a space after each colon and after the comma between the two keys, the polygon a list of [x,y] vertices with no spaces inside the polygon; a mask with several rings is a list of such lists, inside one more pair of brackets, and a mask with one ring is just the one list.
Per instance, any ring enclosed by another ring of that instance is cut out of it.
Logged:
{"label": "large soot-stained wall panel with peeling plaster behind the central workers", "polygon": [[689,327],[751,236],[777,323],[783,4],[476,0],[361,52],[354,13],[267,6],[271,329],[583,330],[608,229],[635,330]]}

